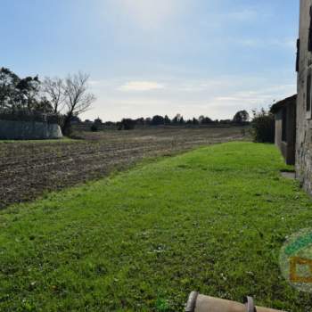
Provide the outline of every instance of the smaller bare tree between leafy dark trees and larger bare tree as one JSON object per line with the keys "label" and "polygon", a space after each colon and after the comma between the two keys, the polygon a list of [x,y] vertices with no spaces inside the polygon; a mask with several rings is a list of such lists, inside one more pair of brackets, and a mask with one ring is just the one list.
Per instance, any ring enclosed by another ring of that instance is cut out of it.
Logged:
{"label": "smaller bare tree between leafy dark trees and larger bare tree", "polygon": [[53,107],[53,113],[60,114],[64,108],[64,84],[62,79],[46,77],[42,89]]}

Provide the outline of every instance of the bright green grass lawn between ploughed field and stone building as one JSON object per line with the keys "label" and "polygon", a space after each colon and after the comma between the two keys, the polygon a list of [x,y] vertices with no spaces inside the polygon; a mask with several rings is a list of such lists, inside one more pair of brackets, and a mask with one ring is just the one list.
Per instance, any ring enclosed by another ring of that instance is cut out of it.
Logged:
{"label": "bright green grass lawn between ploughed field and stone building", "polygon": [[283,280],[312,202],[273,145],[219,144],[0,213],[1,311],[182,311],[190,291],[311,309]]}

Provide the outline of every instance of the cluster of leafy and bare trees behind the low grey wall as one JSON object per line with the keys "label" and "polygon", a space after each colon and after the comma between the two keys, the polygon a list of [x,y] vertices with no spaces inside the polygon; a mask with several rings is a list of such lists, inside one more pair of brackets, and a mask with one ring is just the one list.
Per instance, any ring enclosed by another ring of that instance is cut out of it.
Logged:
{"label": "cluster of leafy and bare trees behind the low grey wall", "polygon": [[88,92],[89,76],[78,72],[66,78],[20,78],[0,68],[0,113],[7,115],[54,115],[62,133],[70,133],[71,120],[87,111],[94,102]]}

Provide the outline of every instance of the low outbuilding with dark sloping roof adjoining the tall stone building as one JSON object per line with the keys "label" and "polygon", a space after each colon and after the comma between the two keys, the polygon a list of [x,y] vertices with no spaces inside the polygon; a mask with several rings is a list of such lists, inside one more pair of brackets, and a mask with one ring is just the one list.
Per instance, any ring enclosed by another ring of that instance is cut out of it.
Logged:
{"label": "low outbuilding with dark sloping roof adjoining the tall stone building", "polygon": [[271,108],[275,114],[275,144],[288,165],[294,165],[296,159],[296,103],[297,94],[275,103]]}

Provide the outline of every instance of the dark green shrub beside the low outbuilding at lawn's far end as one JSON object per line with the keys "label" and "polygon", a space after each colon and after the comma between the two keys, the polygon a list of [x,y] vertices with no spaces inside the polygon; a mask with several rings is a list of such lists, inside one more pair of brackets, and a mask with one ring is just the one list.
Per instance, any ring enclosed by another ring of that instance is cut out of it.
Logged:
{"label": "dark green shrub beside the low outbuilding at lawn's far end", "polygon": [[275,142],[275,118],[274,115],[261,109],[253,111],[251,122],[251,135],[255,142],[274,143]]}

